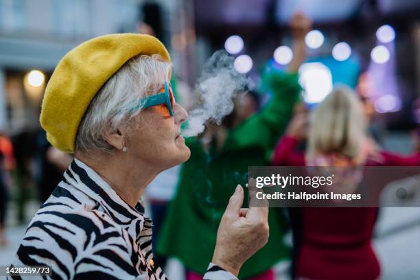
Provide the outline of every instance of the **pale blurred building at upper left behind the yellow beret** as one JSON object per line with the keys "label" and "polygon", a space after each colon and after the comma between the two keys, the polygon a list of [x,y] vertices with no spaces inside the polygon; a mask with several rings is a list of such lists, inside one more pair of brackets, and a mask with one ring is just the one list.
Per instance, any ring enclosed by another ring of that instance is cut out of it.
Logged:
{"label": "pale blurred building at upper left behind the yellow beret", "polygon": [[89,38],[136,32],[143,2],[0,0],[0,130],[39,128],[40,100],[60,58]]}

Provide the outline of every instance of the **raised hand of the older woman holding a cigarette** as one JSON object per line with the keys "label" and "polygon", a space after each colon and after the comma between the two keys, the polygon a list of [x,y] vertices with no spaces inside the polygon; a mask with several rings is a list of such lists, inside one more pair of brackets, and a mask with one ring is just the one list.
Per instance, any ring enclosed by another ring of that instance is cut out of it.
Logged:
{"label": "raised hand of the older woman holding a cigarette", "polygon": [[243,201],[244,190],[237,185],[220,221],[212,260],[233,275],[268,241],[268,207],[241,209]]}

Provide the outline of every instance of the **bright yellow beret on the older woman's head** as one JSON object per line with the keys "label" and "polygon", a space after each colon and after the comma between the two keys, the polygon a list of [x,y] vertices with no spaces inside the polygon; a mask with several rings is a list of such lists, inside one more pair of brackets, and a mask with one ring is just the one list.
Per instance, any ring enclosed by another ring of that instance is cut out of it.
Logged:
{"label": "bright yellow beret on the older woman's head", "polygon": [[140,54],[160,54],[170,62],[161,41],[142,34],[100,36],[69,51],[45,89],[40,124],[49,143],[73,153],[80,121],[97,91],[124,63]]}

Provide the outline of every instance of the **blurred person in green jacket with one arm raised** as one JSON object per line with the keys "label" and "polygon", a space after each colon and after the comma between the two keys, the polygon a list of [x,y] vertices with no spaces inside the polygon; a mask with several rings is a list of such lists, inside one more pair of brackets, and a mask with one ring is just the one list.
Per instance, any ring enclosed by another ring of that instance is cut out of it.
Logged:
{"label": "blurred person in green jacket with one arm raised", "polygon": [[[248,166],[270,164],[272,149],[299,99],[301,86],[296,72],[306,57],[304,38],[310,26],[310,20],[303,14],[293,17],[294,58],[288,73],[272,71],[263,78],[272,97],[259,113],[237,124],[234,110],[222,126],[209,124],[200,137],[185,140],[191,158],[180,171],[176,198],[163,224],[157,252],[177,257],[187,271],[196,275],[206,271],[218,224],[235,187],[246,184]],[[261,275],[290,255],[283,244],[283,235],[289,227],[283,213],[270,209],[268,222],[268,243],[245,262],[240,279]],[[272,277],[264,279],[268,278]]]}

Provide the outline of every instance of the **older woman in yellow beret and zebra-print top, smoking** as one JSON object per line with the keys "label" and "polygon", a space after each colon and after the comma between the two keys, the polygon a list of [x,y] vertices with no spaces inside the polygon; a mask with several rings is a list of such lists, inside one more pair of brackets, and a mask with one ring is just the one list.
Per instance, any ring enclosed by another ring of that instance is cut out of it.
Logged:
{"label": "older woman in yellow beret and zebra-print top, smoking", "polygon": [[[187,112],[174,101],[170,56],[152,36],[112,34],[71,50],[49,80],[40,121],[75,154],[34,215],[10,268],[49,266],[53,279],[166,279],[152,256],[141,194],[189,159]],[[205,279],[236,279],[268,239],[268,209],[241,209],[237,186],[220,222]],[[194,254],[194,252],[191,252]]]}

